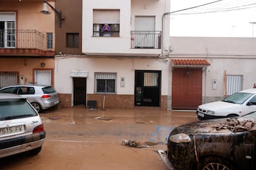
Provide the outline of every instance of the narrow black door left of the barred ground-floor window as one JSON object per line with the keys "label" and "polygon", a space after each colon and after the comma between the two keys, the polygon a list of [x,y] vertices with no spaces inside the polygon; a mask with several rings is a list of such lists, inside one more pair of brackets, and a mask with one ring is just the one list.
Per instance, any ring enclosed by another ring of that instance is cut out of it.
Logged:
{"label": "narrow black door left of the barred ground-floor window", "polygon": [[86,78],[73,78],[74,105],[86,105]]}

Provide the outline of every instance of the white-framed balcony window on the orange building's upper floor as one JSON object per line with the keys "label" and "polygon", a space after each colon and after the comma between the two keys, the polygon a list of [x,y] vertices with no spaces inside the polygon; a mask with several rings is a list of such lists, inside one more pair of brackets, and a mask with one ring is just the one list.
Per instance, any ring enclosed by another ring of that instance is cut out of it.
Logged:
{"label": "white-framed balcony window on the orange building's upper floor", "polygon": [[15,47],[16,13],[0,12],[0,47]]}

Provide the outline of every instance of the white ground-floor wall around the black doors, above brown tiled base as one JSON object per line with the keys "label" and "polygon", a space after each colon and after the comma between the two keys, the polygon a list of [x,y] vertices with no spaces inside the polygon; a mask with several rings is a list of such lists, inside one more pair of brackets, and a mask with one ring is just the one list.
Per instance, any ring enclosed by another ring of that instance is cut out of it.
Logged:
{"label": "white ground-floor wall around the black doors, above brown tiled base", "polygon": [[[117,94],[134,95],[135,70],[160,70],[161,95],[167,95],[169,79],[169,62],[151,58],[93,58],[78,56],[55,57],[55,89],[60,94],[73,93],[71,71],[87,71],[87,94],[95,94],[95,72],[117,73]],[[125,86],[120,86],[121,77],[125,78]],[[60,83],[61,82],[61,83]]]}

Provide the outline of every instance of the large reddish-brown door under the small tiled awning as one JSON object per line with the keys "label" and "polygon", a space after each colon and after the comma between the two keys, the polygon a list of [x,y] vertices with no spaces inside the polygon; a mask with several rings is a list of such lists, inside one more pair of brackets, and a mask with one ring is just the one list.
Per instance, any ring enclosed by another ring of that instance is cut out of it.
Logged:
{"label": "large reddish-brown door under the small tiled awning", "polygon": [[202,103],[201,68],[175,68],[172,78],[172,108],[196,109]]}

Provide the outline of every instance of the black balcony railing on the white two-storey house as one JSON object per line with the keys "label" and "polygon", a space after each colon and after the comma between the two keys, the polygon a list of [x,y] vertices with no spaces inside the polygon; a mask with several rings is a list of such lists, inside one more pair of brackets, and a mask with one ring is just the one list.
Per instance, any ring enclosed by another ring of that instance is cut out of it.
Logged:
{"label": "black balcony railing on the white two-storey house", "polygon": [[161,49],[161,31],[132,30],[131,35],[132,49]]}

